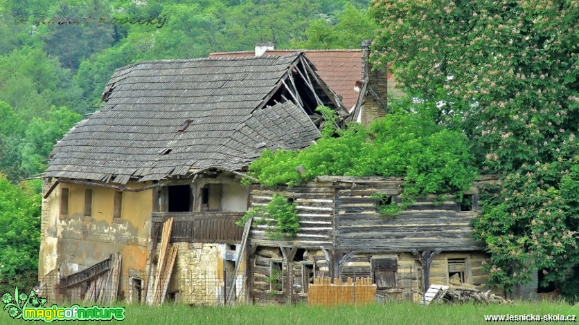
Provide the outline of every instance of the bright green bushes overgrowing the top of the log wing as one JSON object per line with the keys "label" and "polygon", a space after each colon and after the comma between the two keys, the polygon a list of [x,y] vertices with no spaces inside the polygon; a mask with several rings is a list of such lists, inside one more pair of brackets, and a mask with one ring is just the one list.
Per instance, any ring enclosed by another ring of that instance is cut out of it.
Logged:
{"label": "bright green bushes overgrowing the top of the log wing", "polygon": [[293,186],[323,175],[404,176],[402,207],[427,194],[461,196],[476,178],[467,138],[420,113],[391,113],[367,129],[353,123],[341,130],[328,118],[330,110],[321,110],[327,122],[316,144],[301,151],[266,150],[249,174],[267,186]]}

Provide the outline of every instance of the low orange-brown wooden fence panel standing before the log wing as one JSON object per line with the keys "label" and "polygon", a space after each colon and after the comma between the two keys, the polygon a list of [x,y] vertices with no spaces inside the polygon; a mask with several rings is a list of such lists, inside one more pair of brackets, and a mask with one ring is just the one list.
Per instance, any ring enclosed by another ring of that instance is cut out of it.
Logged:
{"label": "low orange-brown wooden fence panel standing before the log wing", "polygon": [[336,306],[368,304],[376,301],[376,285],[367,278],[353,281],[348,278],[346,283],[341,279],[316,278],[314,284],[308,287],[308,305]]}

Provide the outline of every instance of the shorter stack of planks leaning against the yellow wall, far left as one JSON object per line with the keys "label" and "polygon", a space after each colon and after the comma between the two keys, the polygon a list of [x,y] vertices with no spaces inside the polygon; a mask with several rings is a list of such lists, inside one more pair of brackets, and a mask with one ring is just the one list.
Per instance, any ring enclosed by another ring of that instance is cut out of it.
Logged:
{"label": "shorter stack of planks leaning against the yellow wall, far left", "polygon": [[113,304],[118,295],[118,284],[121,279],[122,256],[119,253],[112,255],[111,268],[97,277],[91,279],[87,293],[82,301],[87,304]]}

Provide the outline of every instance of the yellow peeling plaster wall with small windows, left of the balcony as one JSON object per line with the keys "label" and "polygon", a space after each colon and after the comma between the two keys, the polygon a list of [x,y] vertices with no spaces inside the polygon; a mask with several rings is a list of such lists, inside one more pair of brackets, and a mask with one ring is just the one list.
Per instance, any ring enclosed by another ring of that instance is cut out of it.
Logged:
{"label": "yellow peeling plaster wall with small windows, left of the balcony", "polygon": [[[49,187],[46,181],[44,191]],[[129,184],[142,187],[148,184]],[[69,189],[69,213],[60,215],[62,188]],[[61,183],[44,199],[42,206],[42,238],[39,258],[39,279],[60,268],[62,276],[84,270],[120,252],[121,288],[128,293],[129,270],[144,272],[152,212],[152,190],[123,192],[121,219],[114,220],[114,189],[88,187],[93,190],[92,215],[84,216],[86,185]]]}

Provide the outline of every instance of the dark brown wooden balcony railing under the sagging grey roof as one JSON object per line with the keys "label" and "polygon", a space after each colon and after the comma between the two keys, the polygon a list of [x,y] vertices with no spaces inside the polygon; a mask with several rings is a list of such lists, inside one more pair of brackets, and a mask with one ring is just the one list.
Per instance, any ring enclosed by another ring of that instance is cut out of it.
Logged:
{"label": "dark brown wooden balcony railing under the sagging grey roof", "polygon": [[[153,212],[152,231],[161,239],[163,222],[173,218],[171,242],[240,243],[243,228],[235,225],[244,212]],[[158,230],[157,230],[158,229]]]}

